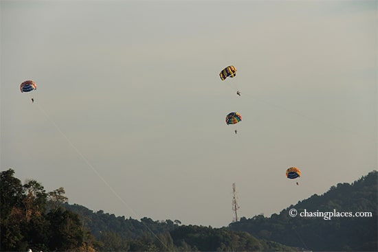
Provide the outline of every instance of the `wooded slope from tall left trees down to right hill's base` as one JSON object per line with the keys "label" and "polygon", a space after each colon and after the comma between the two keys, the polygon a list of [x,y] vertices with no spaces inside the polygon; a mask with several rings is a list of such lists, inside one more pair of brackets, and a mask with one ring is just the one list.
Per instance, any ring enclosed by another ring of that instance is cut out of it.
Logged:
{"label": "wooded slope from tall left trees down to right hill's base", "polygon": [[0,251],[298,251],[226,227],[93,212],[67,204],[64,194],[0,172]]}

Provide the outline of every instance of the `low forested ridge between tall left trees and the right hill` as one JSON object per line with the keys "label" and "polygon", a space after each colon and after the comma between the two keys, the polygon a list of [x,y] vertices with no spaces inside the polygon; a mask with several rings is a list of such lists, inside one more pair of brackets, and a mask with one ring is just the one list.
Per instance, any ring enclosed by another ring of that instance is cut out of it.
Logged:
{"label": "low forested ridge between tall left trees and the right hill", "polygon": [[227,227],[181,225],[179,220],[135,220],[92,211],[82,205],[63,205],[80,216],[97,242],[98,251],[298,251],[278,242],[258,240]]}

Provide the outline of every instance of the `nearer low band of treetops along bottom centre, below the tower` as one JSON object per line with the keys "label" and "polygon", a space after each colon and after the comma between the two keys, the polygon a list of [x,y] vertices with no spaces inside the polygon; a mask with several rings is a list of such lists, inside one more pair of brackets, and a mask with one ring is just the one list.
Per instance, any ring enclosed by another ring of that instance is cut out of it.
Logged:
{"label": "nearer low band of treetops along bottom centre, below the tower", "polygon": [[123,240],[111,231],[106,236],[102,247],[98,247],[99,251],[295,251],[277,242],[257,240],[249,233],[225,227],[183,225],[157,235],[144,233],[133,240]]}

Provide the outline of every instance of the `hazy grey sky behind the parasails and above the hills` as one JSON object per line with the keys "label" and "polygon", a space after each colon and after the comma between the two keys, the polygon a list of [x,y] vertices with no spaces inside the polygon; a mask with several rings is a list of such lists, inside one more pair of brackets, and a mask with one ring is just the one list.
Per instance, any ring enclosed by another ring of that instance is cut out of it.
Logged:
{"label": "hazy grey sky behind the parasails and above the hills", "polygon": [[351,183],[377,170],[377,5],[1,0],[1,170],[212,227],[232,221],[232,183],[247,218]]}

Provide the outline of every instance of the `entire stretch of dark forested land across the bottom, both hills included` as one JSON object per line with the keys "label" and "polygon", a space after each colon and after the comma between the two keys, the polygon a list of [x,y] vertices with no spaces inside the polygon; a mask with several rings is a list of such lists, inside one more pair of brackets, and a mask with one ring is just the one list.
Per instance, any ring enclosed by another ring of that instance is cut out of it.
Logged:
{"label": "entire stretch of dark forested land across the bottom, both hills included", "polygon": [[[270,218],[241,218],[229,227],[181,225],[179,220],[134,220],[69,205],[63,187],[45,192],[1,172],[1,251],[377,251],[377,172],[339,183]],[[291,217],[320,212],[371,212],[357,217]],[[282,245],[285,244],[285,245]]]}

